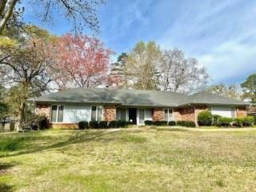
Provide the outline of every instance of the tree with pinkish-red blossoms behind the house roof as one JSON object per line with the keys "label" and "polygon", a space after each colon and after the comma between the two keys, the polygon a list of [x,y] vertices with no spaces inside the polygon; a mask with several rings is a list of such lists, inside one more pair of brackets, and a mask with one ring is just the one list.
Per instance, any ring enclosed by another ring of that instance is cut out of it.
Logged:
{"label": "tree with pinkish-red blossoms behind the house roof", "polygon": [[95,87],[106,82],[112,51],[97,38],[65,34],[54,43],[52,78],[60,90]]}

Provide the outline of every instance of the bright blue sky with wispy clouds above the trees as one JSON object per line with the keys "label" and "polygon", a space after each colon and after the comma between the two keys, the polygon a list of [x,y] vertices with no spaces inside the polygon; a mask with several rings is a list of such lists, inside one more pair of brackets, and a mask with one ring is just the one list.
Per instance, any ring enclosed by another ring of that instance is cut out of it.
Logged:
{"label": "bright blue sky with wispy clouds above the trees", "polygon": [[[26,7],[25,20],[42,26]],[[198,58],[211,84],[239,83],[256,73],[255,0],[108,0],[98,13],[98,37],[117,54],[154,41]],[[70,30],[62,18],[43,27],[54,34]]]}

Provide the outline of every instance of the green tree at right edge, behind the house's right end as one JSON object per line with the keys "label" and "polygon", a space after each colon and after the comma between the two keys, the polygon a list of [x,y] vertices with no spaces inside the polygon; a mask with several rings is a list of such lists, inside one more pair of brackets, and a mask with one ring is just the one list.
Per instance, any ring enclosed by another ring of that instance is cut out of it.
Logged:
{"label": "green tree at right edge, behind the house's right end", "polygon": [[256,102],[256,74],[251,74],[242,82],[242,98],[249,98],[251,102]]}

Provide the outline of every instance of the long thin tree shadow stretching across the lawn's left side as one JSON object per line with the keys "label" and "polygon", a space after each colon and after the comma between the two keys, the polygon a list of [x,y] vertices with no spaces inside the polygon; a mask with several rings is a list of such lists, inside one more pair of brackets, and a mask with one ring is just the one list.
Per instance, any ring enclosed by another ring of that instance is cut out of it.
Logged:
{"label": "long thin tree shadow stretching across the lawn's left side", "polygon": [[[104,142],[110,142],[110,141],[113,141],[115,138],[103,138],[103,137],[108,134],[115,134],[118,131],[119,130],[114,130],[114,131],[97,130],[97,131],[91,131],[91,132],[79,131],[78,133],[71,135],[70,138],[68,138],[65,141],[57,142],[50,146],[38,146],[33,150],[22,150],[15,154],[9,154],[9,153],[0,154],[0,158],[1,157],[13,157],[13,156],[18,156],[18,155],[22,155],[22,154],[33,154],[33,153],[37,153],[37,152],[42,152],[44,150],[53,150],[53,149],[57,149],[57,148],[60,148],[63,146],[69,146],[71,144],[78,144],[78,143],[82,143],[82,142],[90,142],[90,141],[94,141],[97,139],[103,140]],[[22,141],[22,140],[19,139],[18,141]],[[26,149],[26,146],[24,146],[22,148]],[[18,149],[18,150],[20,150],[20,149]]]}

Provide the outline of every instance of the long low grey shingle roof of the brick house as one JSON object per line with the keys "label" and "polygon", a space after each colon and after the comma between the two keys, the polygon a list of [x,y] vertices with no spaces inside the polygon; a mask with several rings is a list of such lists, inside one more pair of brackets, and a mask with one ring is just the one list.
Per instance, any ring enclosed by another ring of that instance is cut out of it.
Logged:
{"label": "long low grey shingle roof of the brick house", "polygon": [[71,102],[102,103],[122,106],[161,106],[177,107],[190,104],[215,104],[231,106],[249,106],[250,103],[231,98],[200,92],[188,96],[170,91],[159,90],[113,90],[101,88],[77,88],[62,90],[39,98],[29,99],[34,102]]}

